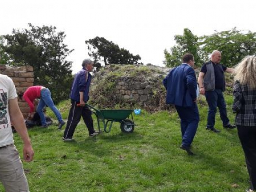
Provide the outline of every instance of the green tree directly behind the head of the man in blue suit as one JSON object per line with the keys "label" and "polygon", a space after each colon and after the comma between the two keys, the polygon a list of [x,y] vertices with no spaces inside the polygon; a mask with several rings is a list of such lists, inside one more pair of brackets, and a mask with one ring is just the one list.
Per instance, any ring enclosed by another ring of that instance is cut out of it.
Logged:
{"label": "green tree directly behind the head of the man in blue suit", "polygon": [[199,65],[201,63],[198,37],[193,35],[188,28],[184,29],[182,36],[175,35],[174,40],[177,45],[171,48],[171,52],[169,53],[166,49],[164,50],[164,65],[166,67],[175,67],[180,65],[182,56],[185,53],[191,53],[194,55],[195,65]]}

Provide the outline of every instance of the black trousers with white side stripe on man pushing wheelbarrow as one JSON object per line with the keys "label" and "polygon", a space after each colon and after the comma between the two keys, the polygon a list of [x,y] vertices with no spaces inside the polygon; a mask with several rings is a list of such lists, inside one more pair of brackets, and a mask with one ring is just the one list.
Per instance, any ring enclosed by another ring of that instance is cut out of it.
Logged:
{"label": "black trousers with white side stripe on man pushing wheelbarrow", "polygon": [[71,108],[68,114],[68,122],[64,131],[64,138],[72,138],[76,129],[76,125],[79,123],[81,116],[84,119],[84,123],[89,131],[89,135],[94,133],[92,111],[87,107],[76,106],[79,102],[71,100]]}

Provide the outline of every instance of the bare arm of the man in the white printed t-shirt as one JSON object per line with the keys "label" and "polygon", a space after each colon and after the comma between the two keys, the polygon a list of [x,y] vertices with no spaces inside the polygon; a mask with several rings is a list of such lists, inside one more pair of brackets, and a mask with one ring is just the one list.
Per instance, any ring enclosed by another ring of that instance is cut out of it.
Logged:
{"label": "bare arm of the man in the white printed t-shirt", "polygon": [[15,130],[19,133],[21,139],[23,140],[23,157],[24,160],[30,162],[33,160],[34,151],[31,146],[31,142],[28,136],[27,127],[25,125],[22,113],[18,106],[17,97],[8,101],[9,103],[9,113],[11,117],[12,124]]}

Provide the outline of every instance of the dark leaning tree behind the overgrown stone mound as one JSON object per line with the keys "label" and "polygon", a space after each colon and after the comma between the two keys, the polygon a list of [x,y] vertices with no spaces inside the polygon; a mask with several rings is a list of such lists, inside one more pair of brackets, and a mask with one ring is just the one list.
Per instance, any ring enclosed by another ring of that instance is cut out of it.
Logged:
{"label": "dark leaning tree behind the overgrown stone mound", "polygon": [[106,40],[104,37],[95,37],[86,40],[88,54],[94,62],[103,61],[105,65],[109,64],[139,64],[140,56],[131,54],[124,48],[119,48],[117,44]]}

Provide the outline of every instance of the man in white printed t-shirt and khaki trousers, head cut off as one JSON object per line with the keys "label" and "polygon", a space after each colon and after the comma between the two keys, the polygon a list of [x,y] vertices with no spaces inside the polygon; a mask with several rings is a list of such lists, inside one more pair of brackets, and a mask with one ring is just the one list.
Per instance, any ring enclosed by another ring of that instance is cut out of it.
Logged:
{"label": "man in white printed t-shirt and khaki trousers, head cut off", "polygon": [[0,181],[5,191],[28,192],[28,181],[13,141],[11,121],[23,140],[24,160],[30,162],[34,151],[18,106],[15,86],[10,77],[0,74]]}

